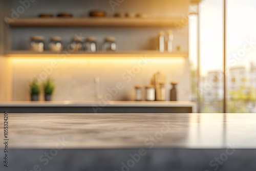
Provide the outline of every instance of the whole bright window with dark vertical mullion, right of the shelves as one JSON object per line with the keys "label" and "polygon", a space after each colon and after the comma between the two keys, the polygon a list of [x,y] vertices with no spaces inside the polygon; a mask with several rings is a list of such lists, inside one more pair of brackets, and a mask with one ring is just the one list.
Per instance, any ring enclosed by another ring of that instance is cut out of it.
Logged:
{"label": "whole bright window with dark vertical mullion, right of the shelves", "polygon": [[[199,5],[199,11],[199,112],[222,113],[224,100],[227,113],[255,112],[253,106],[256,106],[256,17],[252,16],[256,16],[256,1],[204,0]],[[217,77],[212,74],[214,72],[221,74]]]}

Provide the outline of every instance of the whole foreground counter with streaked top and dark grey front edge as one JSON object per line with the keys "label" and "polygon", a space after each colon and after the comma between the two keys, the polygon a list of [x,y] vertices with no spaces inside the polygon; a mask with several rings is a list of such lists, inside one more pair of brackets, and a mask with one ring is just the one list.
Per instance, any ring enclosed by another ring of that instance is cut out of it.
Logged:
{"label": "whole foreground counter with streaked top and dark grey front edge", "polygon": [[254,114],[9,114],[9,168],[254,170],[255,119]]}

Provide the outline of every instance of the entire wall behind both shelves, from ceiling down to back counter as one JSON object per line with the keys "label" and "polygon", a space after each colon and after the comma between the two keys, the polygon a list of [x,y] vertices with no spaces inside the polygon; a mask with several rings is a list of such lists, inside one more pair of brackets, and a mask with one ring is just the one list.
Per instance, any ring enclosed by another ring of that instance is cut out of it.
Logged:
{"label": "entire wall behind both shelves, from ceiling down to back counter", "polygon": [[[19,1],[8,1],[9,15],[11,9],[16,10],[21,4]],[[40,13],[56,14],[62,11],[68,11],[74,16],[87,15],[92,9],[103,9],[112,16],[115,12],[143,12],[149,16],[186,16],[189,6],[189,0],[182,1],[124,1],[113,11],[109,1],[35,1],[19,17],[36,17]],[[105,36],[114,36],[117,39],[119,50],[156,50],[157,35],[159,30],[174,31],[174,47],[180,45],[181,51],[188,51],[188,26],[182,29],[176,28],[11,28],[12,44],[9,46],[13,50],[29,49],[29,38],[32,35],[43,35],[46,42],[51,36],[61,36],[63,44],[67,45],[73,36],[81,35],[96,36],[99,42]],[[45,72],[43,67],[50,65],[55,59],[17,59],[12,61],[12,85],[13,100],[29,100],[28,80],[35,75]],[[137,65],[137,59],[67,59],[62,62],[57,59],[59,67],[54,69],[49,75],[56,82],[56,92],[54,100],[94,100],[94,78],[99,76],[101,79],[101,94],[108,93],[106,89],[115,87],[116,83],[124,80],[122,74]],[[141,69],[141,71],[132,79],[125,83],[125,88],[119,92],[112,100],[133,100],[133,90],[136,84],[146,86],[150,84],[152,74],[161,71],[166,75],[166,88],[169,90],[169,82],[179,81],[178,93],[179,100],[190,100],[190,76],[189,63],[187,58],[183,59],[154,59],[152,62]],[[166,92],[168,98],[168,91]],[[41,97],[42,99],[42,97]]]}

